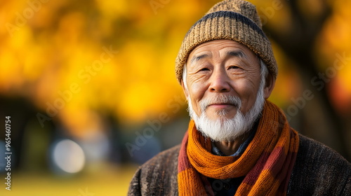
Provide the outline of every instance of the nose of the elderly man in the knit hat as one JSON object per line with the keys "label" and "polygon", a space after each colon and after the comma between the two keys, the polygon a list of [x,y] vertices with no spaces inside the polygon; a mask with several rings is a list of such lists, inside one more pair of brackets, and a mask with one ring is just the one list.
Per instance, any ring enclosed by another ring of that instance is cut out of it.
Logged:
{"label": "nose of the elderly man in the knit hat", "polygon": [[225,70],[213,71],[208,89],[210,92],[230,91],[230,78],[227,76],[227,73],[225,73]]}

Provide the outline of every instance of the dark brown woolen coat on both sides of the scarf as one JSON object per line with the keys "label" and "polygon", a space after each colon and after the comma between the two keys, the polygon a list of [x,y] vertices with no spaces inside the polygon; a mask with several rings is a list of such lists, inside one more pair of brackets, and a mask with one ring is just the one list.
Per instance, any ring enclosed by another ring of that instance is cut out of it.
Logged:
{"label": "dark brown woolen coat on both sides of the scarf", "polygon": [[[180,145],[140,166],[128,195],[178,195]],[[331,148],[300,135],[287,195],[351,195],[351,164]]]}

